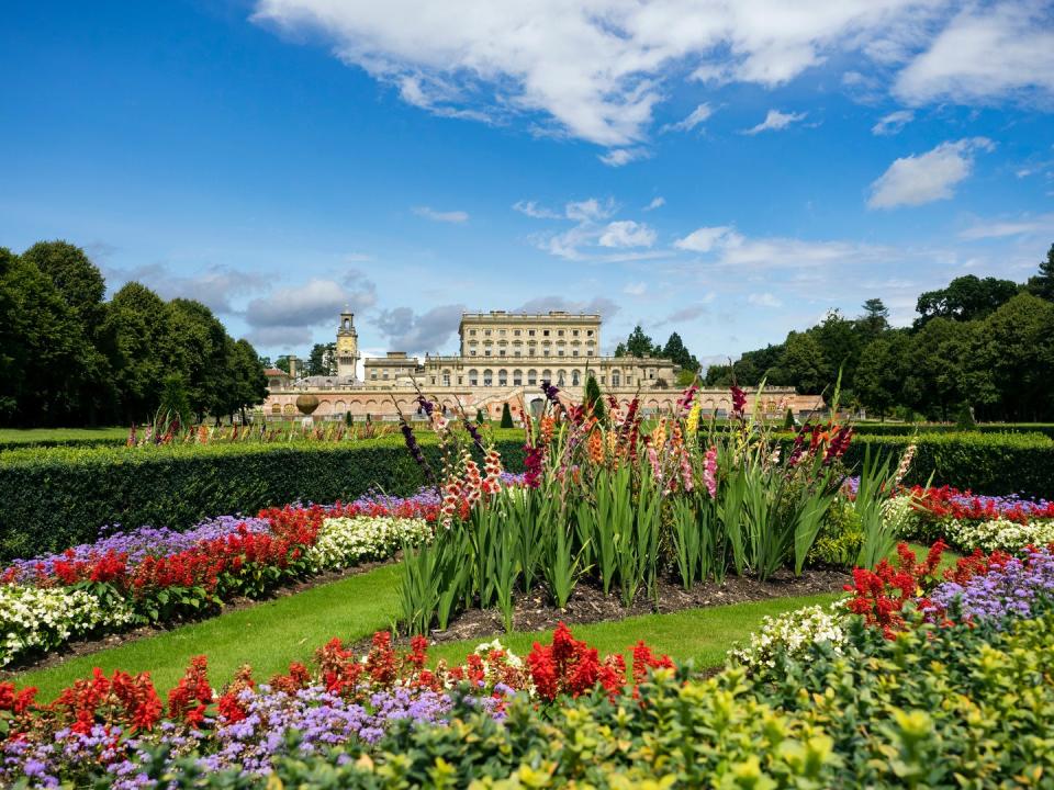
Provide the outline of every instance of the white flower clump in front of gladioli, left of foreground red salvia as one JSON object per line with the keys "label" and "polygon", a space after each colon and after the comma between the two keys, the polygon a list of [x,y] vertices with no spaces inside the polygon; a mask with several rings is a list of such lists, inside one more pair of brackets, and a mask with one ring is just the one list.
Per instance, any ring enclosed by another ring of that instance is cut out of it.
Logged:
{"label": "white flower clump in front of gladioli, left of foreground red salvia", "polygon": [[818,642],[830,642],[836,653],[842,652],[845,632],[842,630],[844,607],[832,603],[830,609],[811,606],[796,609],[777,618],[765,617],[761,630],[750,635],[750,644],[729,652],[729,657],[751,673],[774,667],[776,651],[783,646],[790,656],[798,656]]}

